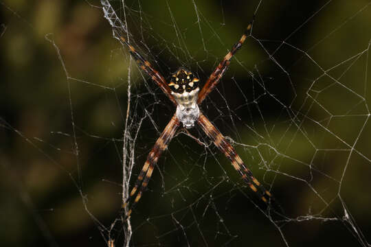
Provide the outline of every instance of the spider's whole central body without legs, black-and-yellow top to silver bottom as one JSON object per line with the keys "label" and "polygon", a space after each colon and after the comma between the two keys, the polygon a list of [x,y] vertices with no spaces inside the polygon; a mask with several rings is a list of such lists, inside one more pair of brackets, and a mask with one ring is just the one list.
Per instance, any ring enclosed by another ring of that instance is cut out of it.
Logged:
{"label": "spider's whole central body without legs, black-and-yellow top to silver bottom", "polygon": [[177,102],[177,117],[186,128],[192,128],[199,118],[200,110],[197,105],[199,96],[199,79],[186,69],[178,69],[168,84],[171,94]]}

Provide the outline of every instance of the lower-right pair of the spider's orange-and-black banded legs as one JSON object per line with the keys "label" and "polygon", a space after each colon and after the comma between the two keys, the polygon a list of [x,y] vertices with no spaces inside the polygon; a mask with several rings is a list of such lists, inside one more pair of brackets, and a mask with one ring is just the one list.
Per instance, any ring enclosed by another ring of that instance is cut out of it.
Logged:
{"label": "lower-right pair of the spider's orange-and-black banded legs", "polygon": [[223,134],[215,128],[215,126],[203,115],[200,114],[199,119],[197,120],[199,126],[201,126],[203,132],[212,139],[216,147],[229,158],[232,162],[234,169],[242,176],[243,180],[249,185],[250,189],[258,193],[259,197],[264,201],[268,202],[269,198],[272,198],[271,193],[262,186],[261,183],[253,176],[250,169],[248,169],[243,163],[242,159],[236,153],[236,150],[232,145],[225,139]]}

